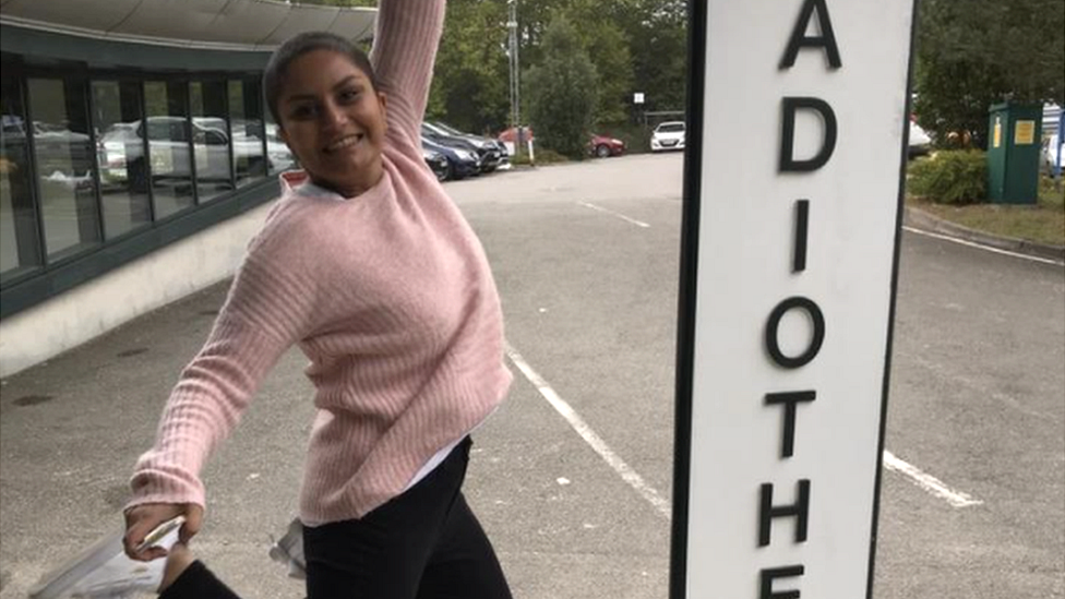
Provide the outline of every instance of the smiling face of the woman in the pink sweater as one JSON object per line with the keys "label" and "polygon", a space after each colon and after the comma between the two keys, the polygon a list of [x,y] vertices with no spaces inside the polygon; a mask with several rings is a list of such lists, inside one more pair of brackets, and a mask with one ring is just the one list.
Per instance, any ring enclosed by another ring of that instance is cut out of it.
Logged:
{"label": "smiling face of the woman in the pink sweater", "polygon": [[312,50],[290,62],[277,108],[280,136],[312,181],[352,197],[381,179],[385,96],[346,56]]}

